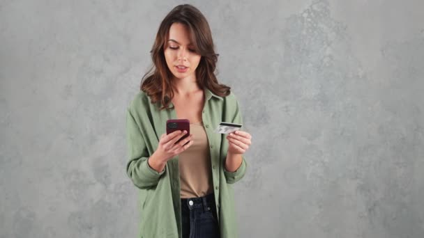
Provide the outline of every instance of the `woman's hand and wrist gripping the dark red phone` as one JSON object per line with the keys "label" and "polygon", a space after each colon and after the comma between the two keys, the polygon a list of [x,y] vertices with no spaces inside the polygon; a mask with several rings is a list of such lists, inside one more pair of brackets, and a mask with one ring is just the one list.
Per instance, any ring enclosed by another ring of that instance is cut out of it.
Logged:
{"label": "woman's hand and wrist gripping the dark red phone", "polygon": [[170,134],[162,134],[160,136],[158,148],[153,152],[151,157],[149,157],[149,166],[160,172],[165,168],[165,164],[169,159],[187,150],[193,143],[193,141],[191,141],[192,134],[176,143],[176,141],[185,136],[185,134],[187,134],[185,130],[175,131]]}

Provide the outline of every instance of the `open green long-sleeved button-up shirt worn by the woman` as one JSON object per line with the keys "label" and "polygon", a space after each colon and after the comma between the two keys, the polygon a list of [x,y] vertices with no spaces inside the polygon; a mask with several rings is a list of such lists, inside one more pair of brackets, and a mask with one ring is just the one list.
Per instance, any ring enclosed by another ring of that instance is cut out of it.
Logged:
{"label": "open green long-sleeved button-up shirt worn by the woman", "polygon": [[[239,181],[246,171],[243,156],[241,166],[235,172],[225,170],[228,141],[225,134],[213,132],[220,122],[243,124],[239,103],[233,93],[219,97],[205,88],[205,104],[202,120],[208,137],[211,154],[213,189],[216,211],[222,238],[238,237],[232,184]],[[176,119],[174,105],[159,110],[160,102],[140,91],[126,112],[128,144],[128,177],[139,189],[140,233],[139,237],[181,237],[181,197],[178,156],[173,157],[158,173],[147,164],[147,159],[158,148],[160,135],[165,134],[168,119]]]}

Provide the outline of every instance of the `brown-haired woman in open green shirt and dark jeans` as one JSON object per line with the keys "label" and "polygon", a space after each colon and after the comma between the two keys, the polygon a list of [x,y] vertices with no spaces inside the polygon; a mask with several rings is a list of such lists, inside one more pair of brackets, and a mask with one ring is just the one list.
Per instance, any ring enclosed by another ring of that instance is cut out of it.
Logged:
{"label": "brown-haired woman in open green shirt and dark jeans", "polygon": [[[237,237],[232,184],[245,175],[248,132],[218,134],[220,122],[242,124],[239,104],[218,83],[209,24],[197,8],[176,6],[162,20],[153,68],[127,110],[127,173],[139,188],[140,237]],[[190,120],[165,134],[168,119]]]}

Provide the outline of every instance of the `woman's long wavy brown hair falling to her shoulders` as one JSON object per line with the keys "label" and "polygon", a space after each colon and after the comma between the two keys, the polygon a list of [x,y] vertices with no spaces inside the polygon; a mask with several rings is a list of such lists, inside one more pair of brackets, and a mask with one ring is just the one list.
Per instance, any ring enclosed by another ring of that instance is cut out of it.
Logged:
{"label": "woman's long wavy brown hair falling to her shoulders", "polygon": [[140,90],[151,97],[152,103],[160,102],[160,109],[167,109],[169,102],[174,97],[172,90],[173,74],[165,61],[164,47],[168,37],[169,28],[174,23],[188,26],[190,38],[195,51],[200,54],[199,65],[196,68],[196,80],[199,87],[209,88],[215,95],[226,97],[230,87],[219,84],[215,77],[216,62],[219,54],[215,54],[211,29],[204,15],[194,6],[183,4],[172,9],[160,23],[156,40],[150,51],[153,65],[144,74]]}

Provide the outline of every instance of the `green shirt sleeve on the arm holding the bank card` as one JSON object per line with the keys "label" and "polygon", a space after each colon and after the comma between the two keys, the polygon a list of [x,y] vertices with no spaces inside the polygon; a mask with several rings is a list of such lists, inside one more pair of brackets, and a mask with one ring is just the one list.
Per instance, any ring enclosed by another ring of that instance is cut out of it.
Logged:
{"label": "green shirt sleeve on the arm holding the bank card", "polygon": [[[243,117],[241,115],[241,111],[240,111],[240,106],[239,106],[239,102],[237,102],[237,100],[234,101],[235,105],[232,106],[232,108],[234,109],[234,111],[232,112],[232,118],[230,118],[231,122],[236,123],[236,124],[241,124],[243,125]],[[227,138],[224,139],[227,140]],[[228,141],[226,141],[225,143],[226,148],[225,148],[225,154],[227,154],[227,150],[228,150]],[[244,177],[248,164],[245,161],[245,156],[244,154],[241,156],[242,157],[242,161],[241,161],[241,165],[239,168],[237,168],[237,170],[235,170],[234,172],[229,172],[226,168],[225,168],[225,160],[224,160],[224,164],[223,164],[223,168],[224,168],[224,175],[225,175],[225,179],[227,180],[228,184],[234,184],[235,182],[241,180],[241,178]],[[225,155],[225,158],[227,158],[227,155]]]}

